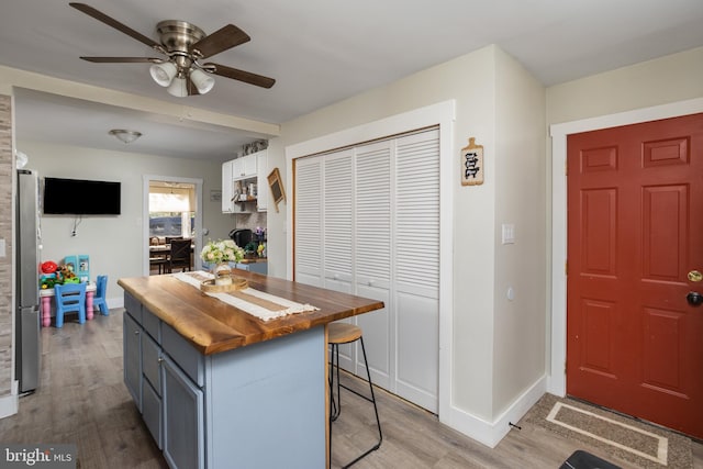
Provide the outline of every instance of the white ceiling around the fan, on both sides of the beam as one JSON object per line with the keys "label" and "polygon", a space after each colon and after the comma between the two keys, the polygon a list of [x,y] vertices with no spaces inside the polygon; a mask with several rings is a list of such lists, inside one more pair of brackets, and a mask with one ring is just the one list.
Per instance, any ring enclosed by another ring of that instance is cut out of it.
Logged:
{"label": "white ceiling around the fan, on both sides of the beam", "polygon": [[[156,23],[212,33],[235,24],[252,41],[209,60],[276,78],[271,89],[215,77],[205,96],[172,98],[148,64],[79,56],[158,56],[68,5],[4,1],[0,65],[148,99],[283,123],[367,89],[496,44],[545,86],[703,45],[703,0],[87,0],[157,40]],[[145,112],[31,90],[15,100],[19,139],[224,160],[265,135],[180,125]],[[110,129],[144,133],[129,146]],[[21,148],[20,148],[21,149]]]}

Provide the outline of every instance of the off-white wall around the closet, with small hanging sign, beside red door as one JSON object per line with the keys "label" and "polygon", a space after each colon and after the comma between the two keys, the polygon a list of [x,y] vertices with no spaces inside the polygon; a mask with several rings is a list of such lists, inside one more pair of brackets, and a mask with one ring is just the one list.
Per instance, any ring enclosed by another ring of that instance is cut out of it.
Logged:
{"label": "off-white wall around the closet, with small hanging sign, beside red door", "polygon": [[[450,309],[454,323],[451,377],[450,382],[440,383],[451,387],[453,411],[440,418],[494,445],[507,432],[502,415],[545,375],[546,273],[544,259],[538,259],[545,252],[546,201],[539,187],[545,180],[544,88],[500,49],[486,47],[282,124],[280,137],[269,146],[269,166],[283,171],[290,199],[286,146],[446,100],[457,103],[453,152],[456,243],[455,294],[451,304],[444,306]],[[469,137],[484,146],[482,186],[460,186],[459,150]],[[514,168],[529,177],[522,178]],[[507,185],[499,182],[503,176]],[[284,231],[284,211],[268,214],[269,269],[280,277],[287,271],[286,239],[291,235]],[[518,226],[521,242],[498,259],[496,226],[509,220]],[[495,293],[502,294],[507,283],[520,292],[510,304],[498,301]],[[522,349],[531,351],[525,355]],[[522,357],[528,358],[528,366]]]}

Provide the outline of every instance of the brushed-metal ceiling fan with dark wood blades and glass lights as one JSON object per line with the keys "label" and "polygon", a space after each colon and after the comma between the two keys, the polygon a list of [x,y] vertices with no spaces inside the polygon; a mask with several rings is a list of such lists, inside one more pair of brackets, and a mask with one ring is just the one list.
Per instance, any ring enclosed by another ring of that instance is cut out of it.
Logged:
{"label": "brushed-metal ceiling fan with dark wood blades and glass lights", "polygon": [[158,43],[86,3],[68,4],[166,56],[166,58],[80,57],[81,59],[97,64],[153,64],[149,69],[152,78],[158,85],[167,87],[169,94],[175,97],[207,93],[215,82],[211,75],[232,78],[263,88],[271,88],[276,82],[272,78],[250,71],[200,62],[252,40],[248,34],[233,24],[227,24],[207,35],[194,24],[186,21],[166,20],[156,25],[160,41]]}

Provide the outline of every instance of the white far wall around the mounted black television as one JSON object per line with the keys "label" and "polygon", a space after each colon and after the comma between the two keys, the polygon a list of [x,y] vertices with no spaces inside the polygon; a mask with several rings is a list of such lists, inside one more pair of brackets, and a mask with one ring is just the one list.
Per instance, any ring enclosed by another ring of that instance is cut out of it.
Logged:
{"label": "white far wall around the mounted black television", "polygon": [[[18,142],[18,148],[29,156],[27,169],[41,177],[66,177],[122,182],[122,214],[118,216],[83,216],[71,236],[75,217],[66,215],[42,216],[43,260],[59,263],[64,256],[90,256],[90,273],[110,277],[108,301],[122,304],[122,289],[116,284],[122,277],[141,277],[146,248],[143,244],[143,176],[172,176],[203,179],[203,227],[211,234],[204,237],[226,237],[232,228],[231,215],[223,215],[221,203],[211,202],[211,189],[222,186],[221,164],[199,159],[166,158],[108,152],[94,148],[69,147],[40,142]],[[80,194],[66,194],[80,197]]]}

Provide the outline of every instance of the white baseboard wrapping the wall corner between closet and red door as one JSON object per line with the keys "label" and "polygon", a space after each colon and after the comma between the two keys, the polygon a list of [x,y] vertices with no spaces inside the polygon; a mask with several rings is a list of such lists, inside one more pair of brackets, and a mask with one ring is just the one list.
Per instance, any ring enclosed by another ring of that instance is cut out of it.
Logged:
{"label": "white baseboard wrapping the wall corner between closet and red door", "polygon": [[511,431],[510,423],[517,423],[545,394],[547,389],[546,380],[546,377],[537,380],[493,422],[487,422],[453,405],[450,406],[449,415],[439,415],[439,422],[482,445],[494,448]]}

